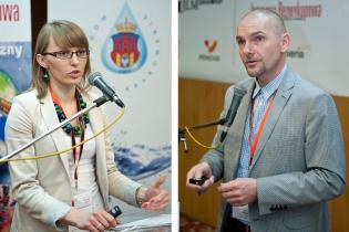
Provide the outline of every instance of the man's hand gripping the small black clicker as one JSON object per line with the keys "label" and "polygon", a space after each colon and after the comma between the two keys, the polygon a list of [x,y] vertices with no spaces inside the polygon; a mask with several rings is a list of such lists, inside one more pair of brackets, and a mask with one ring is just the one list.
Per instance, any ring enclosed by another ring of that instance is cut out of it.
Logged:
{"label": "man's hand gripping the small black clicker", "polygon": [[[189,183],[189,179],[201,179],[202,177],[208,178],[202,186]],[[214,182],[215,177],[212,175],[212,169],[207,162],[201,162],[194,166],[186,175],[186,187],[197,192],[206,191]]]}

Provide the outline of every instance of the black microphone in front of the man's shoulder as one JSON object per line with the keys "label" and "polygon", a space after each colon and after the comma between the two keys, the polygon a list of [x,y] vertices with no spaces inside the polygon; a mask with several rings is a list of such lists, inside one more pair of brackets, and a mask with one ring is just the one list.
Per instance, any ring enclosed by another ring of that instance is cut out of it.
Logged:
{"label": "black microphone in front of the man's shoulder", "polygon": [[227,112],[227,115],[224,119],[223,131],[222,131],[220,137],[219,137],[220,143],[223,143],[225,137],[227,136],[228,129],[230,128],[230,126],[235,119],[237,109],[238,109],[245,94],[246,94],[246,91],[238,88],[238,87],[234,87],[234,96],[233,96],[229,109]]}

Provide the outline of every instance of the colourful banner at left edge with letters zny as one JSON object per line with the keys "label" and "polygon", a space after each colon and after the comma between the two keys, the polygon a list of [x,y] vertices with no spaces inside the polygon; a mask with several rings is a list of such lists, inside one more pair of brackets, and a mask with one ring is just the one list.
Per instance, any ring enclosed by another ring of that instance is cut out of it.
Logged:
{"label": "colourful banner at left edge with letters zny", "polygon": [[[29,0],[0,0],[0,156],[4,156],[4,124],[13,96],[31,81],[31,18]],[[0,165],[0,232],[9,230],[13,200],[8,165]]]}

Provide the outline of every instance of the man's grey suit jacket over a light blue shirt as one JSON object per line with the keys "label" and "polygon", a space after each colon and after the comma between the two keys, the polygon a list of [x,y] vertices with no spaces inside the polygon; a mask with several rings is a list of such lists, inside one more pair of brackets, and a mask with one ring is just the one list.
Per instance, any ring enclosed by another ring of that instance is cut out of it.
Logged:
{"label": "man's grey suit jacket over a light blue shirt", "polygon": [[[225,144],[203,157],[215,180],[236,178],[254,78],[236,86],[247,91]],[[227,89],[222,117],[232,102]],[[220,127],[213,144],[217,144]],[[286,72],[265,123],[249,177],[257,179],[257,200],[249,204],[252,231],[329,231],[327,200],[345,191],[346,161],[337,109],[331,96]],[[218,231],[224,231],[230,205],[223,200]]]}

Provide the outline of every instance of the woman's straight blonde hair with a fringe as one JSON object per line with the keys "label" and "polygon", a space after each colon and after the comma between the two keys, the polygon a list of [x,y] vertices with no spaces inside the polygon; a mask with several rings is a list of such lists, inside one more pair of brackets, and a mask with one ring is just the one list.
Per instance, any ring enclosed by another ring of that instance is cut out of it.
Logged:
{"label": "woman's straight blonde hair with a fringe", "polygon": [[[38,98],[47,96],[49,82],[43,78],[48,72],[44,67],[40,66],[37,62],[37,55],[43,54],[49,46],[50,39],[53,39],[57,45],[63,49],[79,48],[89,50],[89,40],[82,29],[73,22],[66,20],[52,21],[44,24],[38,35],[37,44],[32,61],[32,82],[31,88],[38,91]],[[80,92],[84,92],[89,86],[86,75],[91,72],[90,57],[83,73],[83,80],[76,86]]]}

